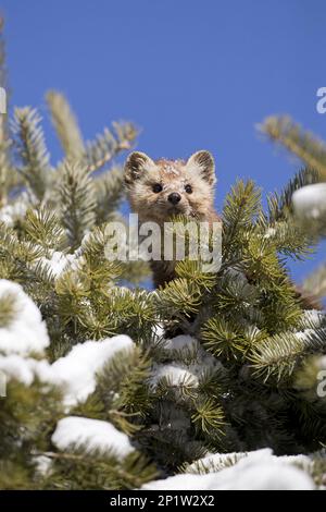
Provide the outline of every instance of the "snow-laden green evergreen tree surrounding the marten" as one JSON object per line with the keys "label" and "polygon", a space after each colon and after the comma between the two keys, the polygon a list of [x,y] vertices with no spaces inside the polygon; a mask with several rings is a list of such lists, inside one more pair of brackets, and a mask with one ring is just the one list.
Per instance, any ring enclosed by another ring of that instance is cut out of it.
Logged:
{"label": "snow-laden green evergreen tree surrounding the marten", "polygon": [[[145,263],[104,252],[124,198],[113,161],[137,130],[115,123],[85,143],[63,95],[47,101],[59,163],[37,110],[16,108],[0,126],[0,487],[139,488],[220,472],[266,447],[315,452],[294,463],[322,485],[326,315],[308,308],[287,260],[325,234],[325,210],[312,231],[292,204],[296,191],[325,179],[324,149],[287,127],[296,142],[287,147],[308,167],[268,197],[267,211],[253,182],[236,183],[221,269],[186,258],[177,279],[150,291],[140,285]],[[286,139],[278,120],[264,130]]]}

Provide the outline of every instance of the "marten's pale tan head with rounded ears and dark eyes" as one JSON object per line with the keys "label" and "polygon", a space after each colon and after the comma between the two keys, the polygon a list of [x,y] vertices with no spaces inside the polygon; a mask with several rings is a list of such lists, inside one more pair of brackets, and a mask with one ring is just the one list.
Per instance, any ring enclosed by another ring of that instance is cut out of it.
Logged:
{"label": "marten's pale tan head with rounded ears and dark eyes", "polygon": [[204,219],[213,207],[215,182],[209,151],[197,151],[187,161],[154,161],[134,151],[125,164],[130,206],[143,221],[164,222],[177,214]]}

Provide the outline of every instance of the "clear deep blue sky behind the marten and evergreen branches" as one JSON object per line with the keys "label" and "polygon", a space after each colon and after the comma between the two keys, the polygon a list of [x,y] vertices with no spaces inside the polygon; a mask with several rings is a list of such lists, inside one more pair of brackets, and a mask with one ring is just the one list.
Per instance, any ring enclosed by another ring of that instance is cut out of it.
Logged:
{"label": "clear deep blue sky behind the marten and evergreen branches", "polygon": [[[324,0],[2,0],[14,105],[62,90],[86,138],[133,120],[156,157],[210,149],[217,208],[237,176],[280,188],[298,162],[255,124],[289,113],[326,138],[316,90],[326,86]],[[49,149],[60,148],[48,121]],[[301,279],[322,260],[291,265]]]}

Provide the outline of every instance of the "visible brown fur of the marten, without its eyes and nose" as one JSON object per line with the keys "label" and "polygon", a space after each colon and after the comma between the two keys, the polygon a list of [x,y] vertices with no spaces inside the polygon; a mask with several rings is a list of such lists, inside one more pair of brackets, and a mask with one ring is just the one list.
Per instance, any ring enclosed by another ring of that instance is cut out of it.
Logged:
{"label": "visible brown fur of the marten, without its eyes and nose", "polygon": [[[221,222],[214,209],[216,183],[214,159],[209,151],[195,153],[187,161],[160,159],[153,161],[143,153],[131,153],[125,164],[125,183],[131,209],[138,214],[139,223],[155,221],[161,227],[174,215],[183,214],[199,221]],[[153,192],[155,184],[162,191]],[[187,193],[186,185],[191,186]],[[178,193],[177,205],[168,202],[168,195]],[[151,261],[154,285],[164,285],[175,278],[175,261]],[[293,284],[296,297],[303,308],[323,309],[319,301],[302,293]]]}

